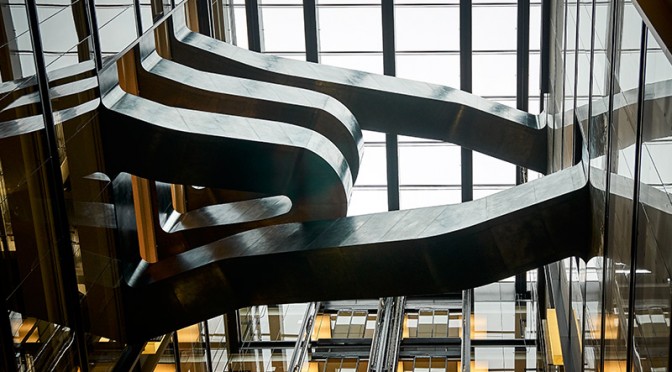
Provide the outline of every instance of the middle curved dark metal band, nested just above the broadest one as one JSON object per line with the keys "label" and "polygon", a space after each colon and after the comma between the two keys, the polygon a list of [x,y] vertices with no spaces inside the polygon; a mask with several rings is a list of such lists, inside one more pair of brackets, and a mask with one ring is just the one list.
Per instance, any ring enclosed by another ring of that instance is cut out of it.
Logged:
{"label": "middle curved dark metal band, nested just above the broadest one", "polygon": [[[146,42],[153,43],[149,36]],[[305,89],[202,72],[156,53],[146,55],[141,66],[138,85],[142,97],[169,106],[308,128],[336,145],[348,161],[353,180],[357,178],[364,150],[362,132],[357,119],[335,99]]]}

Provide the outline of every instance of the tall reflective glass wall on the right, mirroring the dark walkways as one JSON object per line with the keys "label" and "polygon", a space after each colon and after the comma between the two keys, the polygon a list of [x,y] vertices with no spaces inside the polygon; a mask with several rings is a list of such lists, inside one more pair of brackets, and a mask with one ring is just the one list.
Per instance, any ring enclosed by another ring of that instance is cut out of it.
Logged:
{"label": "tall reflective glass wall on the right, mirroring the dark walkways", "polygon": [[[669,119],[661,115],[670,61],[631,1],[556,5],[562,12],[554,18],[556,77],[548,102],[564,106],[551,116],[553,165],[576,163],[568,154],[587,141],[586,152],[574,156],[587,160],[598,211],[597,256],[562,263],[572,293],[564,321],[581,336],[573,344],[583,345],[581,368],[668,370],[670,275],[661,244],[669,239],[655,226],[669,225]],[[573,124],[578,130],[568,129]]]}

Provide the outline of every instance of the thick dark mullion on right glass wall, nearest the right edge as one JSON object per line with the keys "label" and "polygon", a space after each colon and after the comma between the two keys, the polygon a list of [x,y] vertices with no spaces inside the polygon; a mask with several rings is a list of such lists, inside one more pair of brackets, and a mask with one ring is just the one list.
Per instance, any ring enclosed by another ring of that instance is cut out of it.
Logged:
{"label": "thick dark mullion on right glass wall, nearest the right edge", "polygon": [[[637,300],[637,240],[639,239],[639,189],[642,175],[642,135],[644,128],[644,96],[646,94],[646,57],[648,48],[648,29],[642,22],[642,35],[639,55],[639,84],[637,91],[637,133],[635,136],[634,190],[632,195],[632,227],[630,233],[630,293],[628,296],[628,331],[626,346],[626,371],[632,371],[635,350],[635,301]],[[668,356],[669,357],[669,356]]]}

